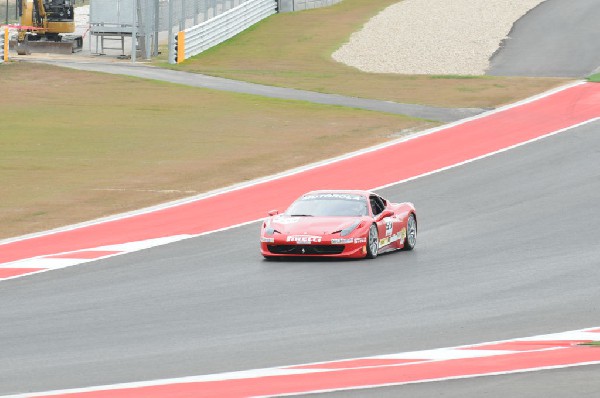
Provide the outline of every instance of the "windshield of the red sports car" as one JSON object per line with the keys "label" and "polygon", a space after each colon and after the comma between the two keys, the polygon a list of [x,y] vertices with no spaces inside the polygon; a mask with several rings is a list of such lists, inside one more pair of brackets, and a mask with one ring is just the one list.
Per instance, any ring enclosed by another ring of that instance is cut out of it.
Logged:
{"label": "windshield of the red sports car", "polygon": [[367,200],[361,195],[322,193],[304,195],[285,212],[291,217],[366,216]]}

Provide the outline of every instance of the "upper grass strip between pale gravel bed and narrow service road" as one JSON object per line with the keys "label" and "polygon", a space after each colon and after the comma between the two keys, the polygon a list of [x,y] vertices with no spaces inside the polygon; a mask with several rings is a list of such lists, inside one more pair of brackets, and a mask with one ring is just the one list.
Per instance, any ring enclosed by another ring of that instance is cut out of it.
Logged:
{"label": "upper grass strip between pale gravel bed and narrow service road", "polygon": [[353,32],[396,2],[344,0],[331,7],[276,14],[180,65],[166,64],[166,55],[156,63],[254,83],[442,107],[497,107],[568,81],[374,74],[331,58]]}

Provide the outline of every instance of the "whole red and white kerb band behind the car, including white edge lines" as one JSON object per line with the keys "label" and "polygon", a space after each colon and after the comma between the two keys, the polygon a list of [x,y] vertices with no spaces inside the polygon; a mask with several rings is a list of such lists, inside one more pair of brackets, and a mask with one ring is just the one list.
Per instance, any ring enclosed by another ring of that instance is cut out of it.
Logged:
{"label": "whole red and white kerb band behind the car, including white edge lines", "polygon": [[[129,245],[159,245],[246,225],[310,190],[376,190],[400,184],[598,120],[600,85],[561,87],[474,118],[206,195],[0,241],[0,281],[135,251]],[[371,169],[379,172],[373,175]]]}

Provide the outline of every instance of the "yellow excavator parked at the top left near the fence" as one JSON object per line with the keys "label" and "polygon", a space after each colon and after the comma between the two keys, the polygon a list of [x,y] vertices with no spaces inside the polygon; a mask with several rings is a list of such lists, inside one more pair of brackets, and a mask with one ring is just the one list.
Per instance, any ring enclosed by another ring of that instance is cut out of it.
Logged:
{"label": "yellow excavator parked at the top left near the fence", "polygon": [[83,47],[83,37],[75,32],[74,0],[17,0],[21,18],[17,53],[71,54]]}

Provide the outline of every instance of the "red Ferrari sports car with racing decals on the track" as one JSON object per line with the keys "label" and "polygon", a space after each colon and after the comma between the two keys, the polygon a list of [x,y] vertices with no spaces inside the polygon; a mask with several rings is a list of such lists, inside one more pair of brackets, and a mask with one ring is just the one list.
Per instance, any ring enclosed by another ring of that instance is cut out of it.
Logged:
{"label": "red Ferrari sports car with racing decals on the track", "polygon": [[391,203],[367,191],[313,191],[284,212],[269,212],[260,232],[261,254],[375,258],[412,250],[417,215],[412,203]]}

